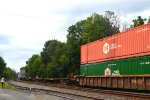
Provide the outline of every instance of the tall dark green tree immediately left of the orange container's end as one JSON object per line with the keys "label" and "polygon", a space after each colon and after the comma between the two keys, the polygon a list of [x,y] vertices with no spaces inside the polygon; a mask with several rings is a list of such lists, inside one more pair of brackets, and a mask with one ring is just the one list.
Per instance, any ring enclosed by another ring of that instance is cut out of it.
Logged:
{"label": "tall dark green tree immediately left of the orange container's end", "polygon": [[68,28],[67,35],[67,52],[66,56],[69,60],[68,63],[68,74],[76,73],[79,74],[80,67],[80,46],[82,44],[82,33],[83,27],[85,24],[85,20],[81,20],[77,22],[75,25],[72,25]]}

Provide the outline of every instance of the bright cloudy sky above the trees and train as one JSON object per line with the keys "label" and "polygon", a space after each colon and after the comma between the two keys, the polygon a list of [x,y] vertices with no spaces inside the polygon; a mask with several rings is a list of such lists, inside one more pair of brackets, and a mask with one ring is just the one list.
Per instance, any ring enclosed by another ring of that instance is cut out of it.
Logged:
{"label": "bright cloudy sky above the trees and train", "polygon": [[16,72],[51,39],[92,13],[114,11],[122,23],[150,16],[150,0],[0,0],[0,56]]}

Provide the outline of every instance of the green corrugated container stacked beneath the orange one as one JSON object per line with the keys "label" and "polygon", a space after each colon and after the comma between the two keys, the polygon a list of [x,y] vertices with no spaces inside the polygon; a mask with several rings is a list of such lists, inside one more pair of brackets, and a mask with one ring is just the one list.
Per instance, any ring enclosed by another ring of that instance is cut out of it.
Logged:
{"label": "green corrugated container stacked beneath the orange one", "polygon": [[80,66],[80,74],[88,76],[106,75],[150,75],[150,56],[126,58]]}

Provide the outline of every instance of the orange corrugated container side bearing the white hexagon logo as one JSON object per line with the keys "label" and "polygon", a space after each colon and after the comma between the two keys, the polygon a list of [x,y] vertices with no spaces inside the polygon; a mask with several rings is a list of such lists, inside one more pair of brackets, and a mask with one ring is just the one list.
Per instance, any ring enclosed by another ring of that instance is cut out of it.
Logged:
{"label": "orange corrugated container side bearing the white hexagon logo", "polygon": [[88,43],[87,49],[87,63],[149,55],[150,24]]}

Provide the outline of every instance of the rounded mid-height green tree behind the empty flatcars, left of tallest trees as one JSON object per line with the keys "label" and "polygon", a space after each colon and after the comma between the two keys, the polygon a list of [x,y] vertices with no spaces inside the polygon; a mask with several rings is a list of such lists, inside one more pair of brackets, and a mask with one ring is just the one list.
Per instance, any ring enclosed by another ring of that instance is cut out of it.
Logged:
{"label": "rounded mid-height green tree behind the empty flatcars, left of tallest trees", "polygon": [[60,58],[65,52],[65,43],[57,40],[49,40],[45,42],[43,51],[41,52],[41,60],[45,67],[47,77],[63,77],[63,67]]}

